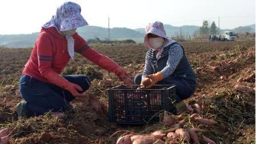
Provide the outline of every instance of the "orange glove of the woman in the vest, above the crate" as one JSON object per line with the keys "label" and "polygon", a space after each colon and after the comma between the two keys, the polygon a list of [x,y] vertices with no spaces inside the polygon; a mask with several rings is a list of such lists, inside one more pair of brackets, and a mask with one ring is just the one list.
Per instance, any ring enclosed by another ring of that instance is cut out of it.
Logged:
{"label": "orange glove of the woman in the vest, above the crate", "polygon": [[[150,78],[150,81],[145,78]],[[147,82],[146,84],[148,84],[148,85],[144,86],[143,88],[150,89],[150,87],[154,86],[155,83],[157,83],[163,79],[163,73],[161,71],[158,71],[155,74],[146,75],[145,78],[143,78],[141,81],[142,86],[143,86],[143,83],[145,84]]]}

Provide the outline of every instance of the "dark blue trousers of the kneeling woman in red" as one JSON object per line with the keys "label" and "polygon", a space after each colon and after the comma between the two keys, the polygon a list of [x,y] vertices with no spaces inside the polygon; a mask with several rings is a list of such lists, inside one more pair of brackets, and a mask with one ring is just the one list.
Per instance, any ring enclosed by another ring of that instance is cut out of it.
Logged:
{"label": "dark blue trousers of the kneeling woman in red", "polygon": [[[67,81],[82,87],[83,91],[89,89],[91,82],[86,75],[66,75]],[[24,99],[25,114],[30,116],[42,115],[47,111],[65,111],[72,109],[70,101],[75,97],[59,86],[41,82],[29,75],[22,75],[19,80],[19,91]],[[82,91],[82,92],[83,92]]]}

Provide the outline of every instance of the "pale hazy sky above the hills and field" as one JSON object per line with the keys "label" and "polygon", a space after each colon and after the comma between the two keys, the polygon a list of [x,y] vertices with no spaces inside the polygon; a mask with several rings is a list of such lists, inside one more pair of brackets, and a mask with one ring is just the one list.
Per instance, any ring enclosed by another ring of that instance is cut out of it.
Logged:
{"label": "pale hazy sky above the hills and field", "polygon": [[[0,34],[28,34],[39,31],[50,20],[62,0],[0,1]],[[201,26],[203,19],[221,29],[233,29],[255,23],[254,0],[75,0],[82,15],[93,26],[136,29],[162,21],[173,26]]]}

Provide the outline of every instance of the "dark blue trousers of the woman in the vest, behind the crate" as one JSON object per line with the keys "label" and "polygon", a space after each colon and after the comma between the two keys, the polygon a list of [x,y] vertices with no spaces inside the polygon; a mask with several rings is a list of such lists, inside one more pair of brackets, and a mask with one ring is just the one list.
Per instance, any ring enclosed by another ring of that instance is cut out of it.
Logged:
{"label": "dark blue trousers of the woman in the vest, behind the crate", "polygon": [[[134,78],[134,83],[136,85],[141,84],[142,74],[137,74]],[[165,78],[162,81],[158,82],[157,85],[176,85],[176,94],[177,99],[176,102],[181,102],[183,99],[187,99],[191,97],[194,91],[190,90],[187,86],[187,83],[182,78],[173,77],[173,78]]]}

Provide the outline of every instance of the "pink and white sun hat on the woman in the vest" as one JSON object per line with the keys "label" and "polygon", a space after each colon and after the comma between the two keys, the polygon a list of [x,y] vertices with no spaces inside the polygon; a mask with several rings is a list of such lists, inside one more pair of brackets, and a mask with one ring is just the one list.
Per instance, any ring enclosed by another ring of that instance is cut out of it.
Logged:
{"label": "pink and white sun hat on the woman in the vest", "polygon": [[163,27],[163,23],[159,21],[149,23],[149,25],[147,25],[145,29],[145,33],[146,34],[144,37],[144,45],[148,48],[151,47],[149,44],[149,38],[147,37],[148,34],[154,34],[154,35],[158,35],[159,37],[168,39],[168,37],[166,37],[166,32],[165,32],[165,28]]}

